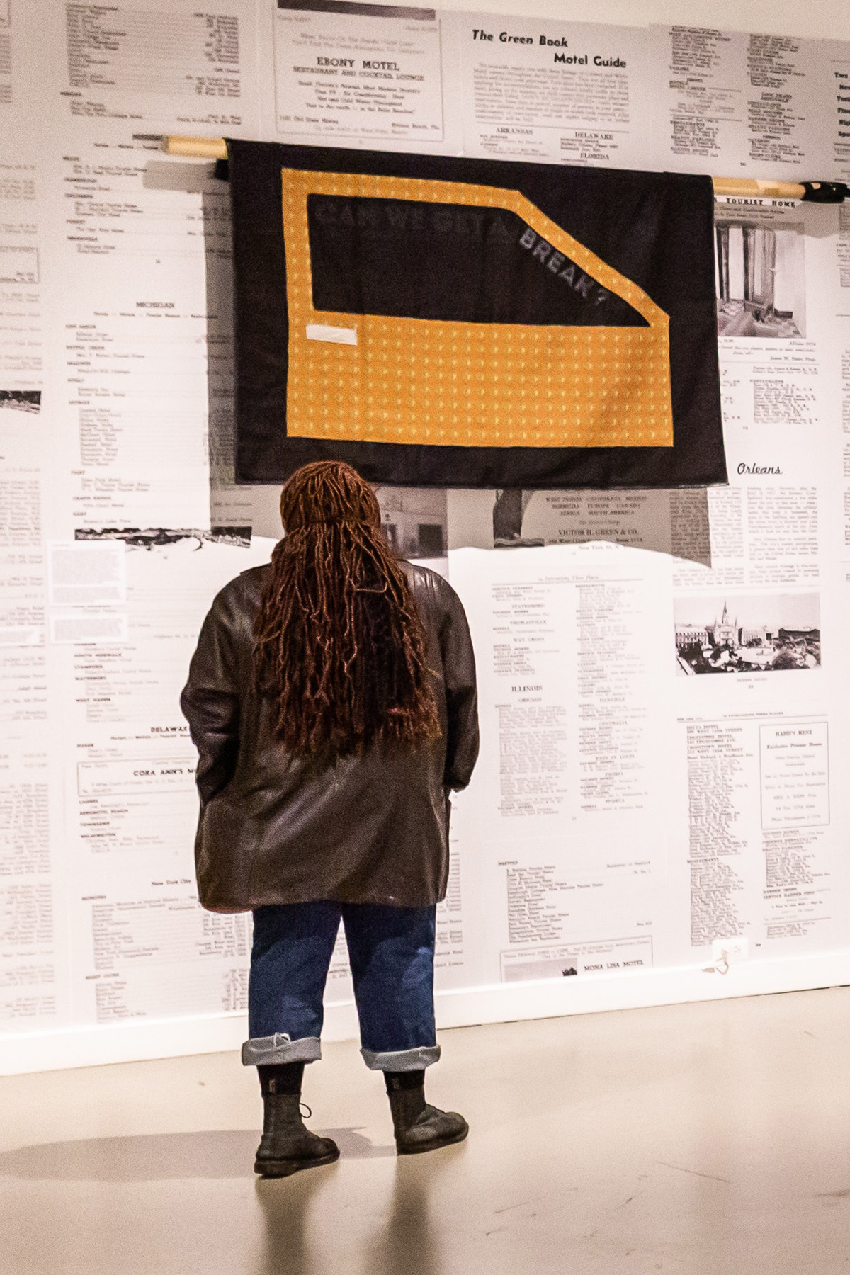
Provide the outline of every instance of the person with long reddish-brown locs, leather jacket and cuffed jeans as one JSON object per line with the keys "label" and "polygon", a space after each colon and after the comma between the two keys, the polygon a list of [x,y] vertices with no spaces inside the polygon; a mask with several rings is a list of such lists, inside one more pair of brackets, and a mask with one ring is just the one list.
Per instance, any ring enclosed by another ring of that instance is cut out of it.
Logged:
{"label": "person with long reddish-brown locs, leather jacket and cuffed jeans", "polygon": [[449,794],[478,756],[463,606],[435,571],[394,557],[371,487],[340,462],[305,465],[280,516],[270,565],[213,602],[181,697],[199,751],[200,901],[254,913],[242,1062],[259,1071],[265,1177],[339,1156],[299,1102],[340,919],[361,1053],[384,1072],[399,1154],[466,1136],[461,1116],[426,1103],[424,1071],[440,1057]]}

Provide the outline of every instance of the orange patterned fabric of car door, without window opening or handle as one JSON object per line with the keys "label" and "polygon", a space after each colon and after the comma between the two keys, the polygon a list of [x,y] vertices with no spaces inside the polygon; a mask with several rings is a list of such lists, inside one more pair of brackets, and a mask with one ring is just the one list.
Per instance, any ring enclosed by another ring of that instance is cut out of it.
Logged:
{"label": "orange patterned fabric of car door, without window opening or handle", "polygon": [[[284,168],[287,433],[468,448],[672,448],[668,315],[514,190]],[[474,204],[516,213],[649,324],[450,323],[313,310],[310,194]],[[311,339],[308,325],[356,332]]]}

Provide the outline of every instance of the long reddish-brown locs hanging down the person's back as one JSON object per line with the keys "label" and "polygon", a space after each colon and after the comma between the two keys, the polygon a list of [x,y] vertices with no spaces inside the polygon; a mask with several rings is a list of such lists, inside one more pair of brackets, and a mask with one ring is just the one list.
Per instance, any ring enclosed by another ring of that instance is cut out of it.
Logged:
{"label": "long reddish-brown locs hanging down the person's back", "polygon": [[350,465],[320,460],[288,479],[280,518],[254,626],[275,737],[324,759],[437,738],[424,629],[375,492]]}

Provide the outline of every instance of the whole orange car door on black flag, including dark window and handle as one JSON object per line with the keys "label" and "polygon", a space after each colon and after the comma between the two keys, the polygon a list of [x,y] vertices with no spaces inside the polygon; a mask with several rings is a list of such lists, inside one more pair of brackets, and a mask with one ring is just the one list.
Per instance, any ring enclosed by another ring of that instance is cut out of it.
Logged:
{"label": "whole orange car door on black flag, including dark window and handle", "polygon": [[283,170],[287,433],[673,446],[668,315],[514,190]]}

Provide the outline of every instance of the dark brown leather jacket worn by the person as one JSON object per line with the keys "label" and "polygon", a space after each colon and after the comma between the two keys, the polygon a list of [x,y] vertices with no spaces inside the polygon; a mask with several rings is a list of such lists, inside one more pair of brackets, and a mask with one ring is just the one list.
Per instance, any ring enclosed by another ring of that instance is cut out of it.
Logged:
{"label": "dark brown leather jacket worn by the person", "polygon": [[455,590],[401,564],[428,638],[442,738],[316,766],[270,731],[254,688],[252,629],[269,566],[243,571],[213,602],[181,697],[198,746],[195,863],[212,912],[273,903],[427,907],[445,896],[449,792],[478,756],[475,660]]}

